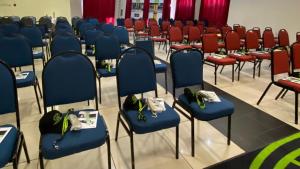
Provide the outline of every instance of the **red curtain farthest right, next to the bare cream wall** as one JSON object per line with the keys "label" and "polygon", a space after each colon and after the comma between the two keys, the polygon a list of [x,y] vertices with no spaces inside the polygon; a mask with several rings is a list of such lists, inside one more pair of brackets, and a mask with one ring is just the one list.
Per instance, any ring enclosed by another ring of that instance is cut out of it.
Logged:
{"label": "red curtain farthest right, next to the bare cream wall", "polygon": [[230,0],[201,0],[199,20],[208,21],[209,26],[222,27],[227,24]]}

